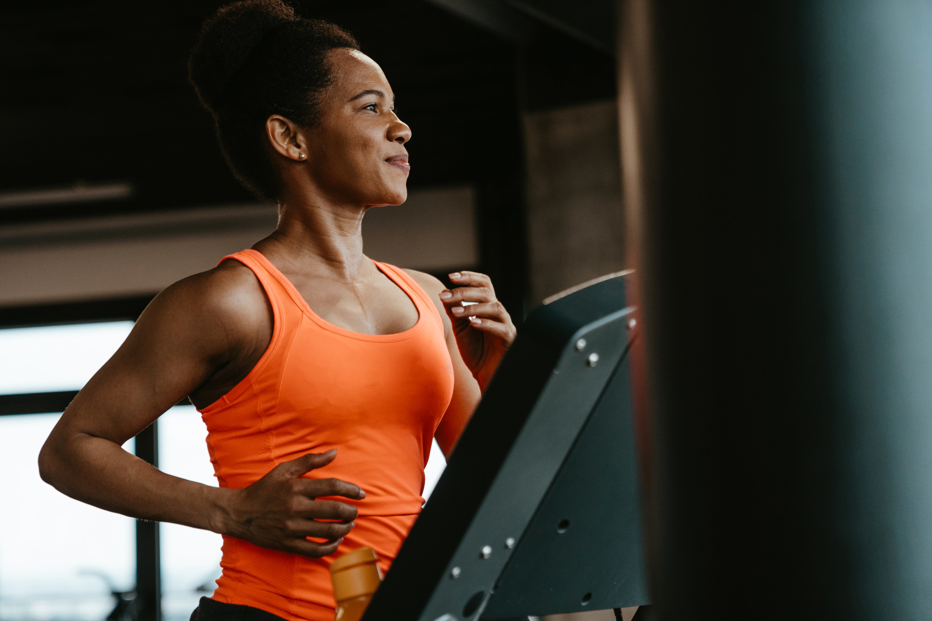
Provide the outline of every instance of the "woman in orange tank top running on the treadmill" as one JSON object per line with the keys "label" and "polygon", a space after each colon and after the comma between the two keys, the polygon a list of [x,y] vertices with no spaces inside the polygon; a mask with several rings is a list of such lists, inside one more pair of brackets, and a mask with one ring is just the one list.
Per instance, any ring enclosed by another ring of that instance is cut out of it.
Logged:
{"label": "woman in orange tank top running on the treadmill", "polygon": [[[330,621],[329,562],[368,546],[388,570],[432,438],[452,451],[514,325],[481,274],[445,290],[363,255],[365,211],[406,197],[411,130],[349,34],[281,0],[238,3],[205,23],[189,69],[278,228],[158,295],[62,415],[41,474],[94,506],[223,534],[224,574],[192,618]],[[185,396],[219,488],[120,448]]]}

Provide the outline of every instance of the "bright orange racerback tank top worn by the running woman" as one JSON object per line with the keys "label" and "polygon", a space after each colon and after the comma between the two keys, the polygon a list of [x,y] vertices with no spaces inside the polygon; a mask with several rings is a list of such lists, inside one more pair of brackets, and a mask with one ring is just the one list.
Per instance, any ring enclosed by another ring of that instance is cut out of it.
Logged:
{"label": "bright orange racerback tank top worn by the running woman", "polygon": [[424,503],[424,466],[453,395],[444,324],[427,293],[386,263],[376,266],[411,298],[418,322],[398,334],[373,335],[315,315],[256,250],[226,259],[253,270],[275,324],[249,375],[200,412],[220,486],[246,487],[282,462],[337,449],[331,464],[305,476],[356,483],[366,497],[338,499],[356,506],[359,518],[332,557],[309,559],[225,536],[213,599],[290,621],[331,621],[330,562],[371,547],[387,572]]}

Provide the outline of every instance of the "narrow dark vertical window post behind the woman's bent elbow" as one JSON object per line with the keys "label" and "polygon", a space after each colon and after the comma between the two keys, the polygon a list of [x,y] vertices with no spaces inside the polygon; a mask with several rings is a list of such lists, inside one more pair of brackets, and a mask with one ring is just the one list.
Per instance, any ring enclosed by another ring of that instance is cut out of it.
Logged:
{"label": "narrow dark vertical window post behind the woman's bent elbow", "polygon": [[[158,467],[158,422],[136,436],[136,456]],[[161,621],[158,522],[136,520],[136,614],[139,621]]]}

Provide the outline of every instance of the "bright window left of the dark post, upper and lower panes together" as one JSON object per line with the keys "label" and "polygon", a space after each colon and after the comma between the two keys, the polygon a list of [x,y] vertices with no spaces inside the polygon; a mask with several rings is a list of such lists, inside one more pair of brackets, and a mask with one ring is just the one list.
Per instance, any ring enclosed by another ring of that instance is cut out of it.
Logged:
{"label": "bright window left of the dark post, upper and lower panes together", "polygon": [[[0,395],[79,389],[132,323],[0,330]],[[135,584],[135,520],[39,479],[36,459],[61,413],[0,416],[0,618],[103,619],[111,590]],[[123,447],[133,450],[133,440]]]}

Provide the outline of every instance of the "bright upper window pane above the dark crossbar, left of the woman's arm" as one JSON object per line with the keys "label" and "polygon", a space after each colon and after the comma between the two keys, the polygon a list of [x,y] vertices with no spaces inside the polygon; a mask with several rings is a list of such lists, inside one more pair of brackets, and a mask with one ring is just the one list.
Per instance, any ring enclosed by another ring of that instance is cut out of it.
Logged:
{"label": "bright upper window pane above the dark crossbar, left of the woman's arm", "polygon": [[132,324],[0,330],[0,395],[80,390],[123,344]]}

